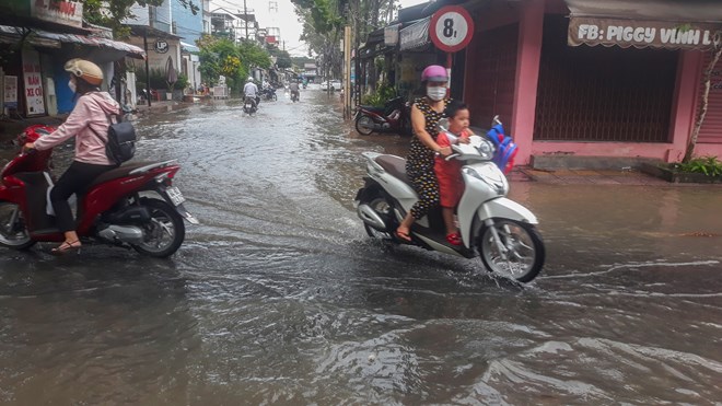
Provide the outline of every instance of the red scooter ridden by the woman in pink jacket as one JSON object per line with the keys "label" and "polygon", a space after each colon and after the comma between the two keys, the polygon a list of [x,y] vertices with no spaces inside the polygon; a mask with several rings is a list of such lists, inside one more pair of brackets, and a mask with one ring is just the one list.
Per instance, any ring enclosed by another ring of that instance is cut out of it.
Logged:
{"label": "red scooter ridden by the woman in pink jacket", "polygon": [[[31,126],[16,141],[24,146],[54,130]],[[51,149],[21,150],[0,173],[0,246],[26,250],[38,241],[65,240],[55,217],[48,214],[51,154]],[[185,239],[183,219],[198,224],[183,206],[183,194],[172,185],[179,169],[174,160],[129,162],[98,176],[77,199],[81,241],[132,247],[153,257],[175,253]],[[150,193],[162,199],[149,197]]]}

